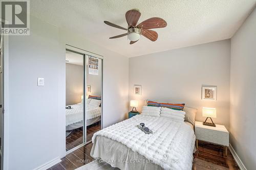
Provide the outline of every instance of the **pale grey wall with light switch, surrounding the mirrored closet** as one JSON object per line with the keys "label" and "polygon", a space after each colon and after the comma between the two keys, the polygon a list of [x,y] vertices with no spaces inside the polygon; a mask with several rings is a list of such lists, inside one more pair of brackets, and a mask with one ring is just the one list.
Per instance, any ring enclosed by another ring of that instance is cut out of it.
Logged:
{"label": "pale grey wall with light switch, surrounding the mirrored closet", "polygon": [[30,36],[9,37],[9,170],[34,169],[66,154],[66,44],[104,56],[103,127],[123,120],[128,108],[126,57],[33,16],[30,25]]}

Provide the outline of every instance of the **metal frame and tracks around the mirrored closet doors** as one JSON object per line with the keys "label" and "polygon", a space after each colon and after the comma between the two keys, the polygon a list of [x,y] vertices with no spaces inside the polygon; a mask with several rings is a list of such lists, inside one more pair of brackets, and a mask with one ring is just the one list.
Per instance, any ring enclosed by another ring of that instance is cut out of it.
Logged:
{"label": "metal frame and tracks around the mirrored closet doors", "polygon": [[[87,95],[87,84],[86,84],[86,75],[87,75],[87,62],[86,62],[86,59],[87,59],[87,55],[91,55],[93,57],[97,57],[99,59],[101,59],[101,125],[100,125],[100,128],[102,129],[102,115],[103,115],[103,105],[102,105],[102,93],[103,93],[103,56],[101,55],[98,55],[96,53],[92,53],[92,52],[89,52],[89,51],[86,51],[86,50],[82,50],[81,48],[78,48],[78,47],[75,47],[75,46],[72,46],[72,45],[69,45],[69,44],[66,44],[66,51],[70,51],[70,52],[73,52],[73,53],[77,53],[77,54],[81,54],[83,55],[83,98],[86,99],[86,95]],[[88,143],[90,143],[92,140],[88,141],[87,142],[87,135],[86,135],[86,132],[87,132],[87,127],[85,126],[86,125],[86,100],[83,100],[83,143],[82,144],[79,144],[77,147],[75,148],[72,148],[71,150],[69,151],[66,151],[66,155],[68,155],[69,153],[77,150],[78,148],[82,147],[83,145],[86,145]],[[65,121],[66,122],[66,121]],[[66,142],[65,142],[66,143]],[[66,144],[65,144],[65,148],[66,148]]]}

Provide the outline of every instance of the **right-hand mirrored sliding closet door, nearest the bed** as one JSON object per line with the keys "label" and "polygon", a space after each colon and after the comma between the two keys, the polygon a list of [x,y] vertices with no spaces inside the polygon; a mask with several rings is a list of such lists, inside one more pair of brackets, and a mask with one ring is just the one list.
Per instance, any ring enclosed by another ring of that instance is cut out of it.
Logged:
{"label": "right-hand mirrored sliding closet door, nearest the bed", "polygon": [[89,142],[93,134],[101,129],[102,59],[86,55],[86,60],[86,141]]}

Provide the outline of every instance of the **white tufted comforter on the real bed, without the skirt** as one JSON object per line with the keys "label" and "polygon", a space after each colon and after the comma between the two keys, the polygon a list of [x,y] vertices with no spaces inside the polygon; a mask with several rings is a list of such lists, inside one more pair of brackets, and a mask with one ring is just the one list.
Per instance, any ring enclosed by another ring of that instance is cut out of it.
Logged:
{"label": "white tufted comforter on the real bed, without the skirt", "polygon": [[[138,129],[140,123],[145,123],[153,134],[145,134]],[[196,137],[184,122],[166,117],[136,115],[94,133],[93,143],[97,135],[121,142],[163,169],[191,169],[193,165]]]}

